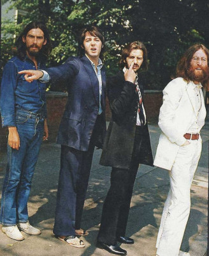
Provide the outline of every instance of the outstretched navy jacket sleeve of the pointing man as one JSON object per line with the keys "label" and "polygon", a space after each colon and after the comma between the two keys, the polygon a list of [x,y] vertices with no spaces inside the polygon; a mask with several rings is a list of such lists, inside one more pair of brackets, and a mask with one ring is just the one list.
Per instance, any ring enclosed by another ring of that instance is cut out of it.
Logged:
{"label": "outstretched navy jacket sleeve of the pointing man", "polygon": [[68,60],[58,67],[47,68],[45,70],[52,83],[57,81],[66,82],[70,81],[79,72],[78,62],[74,58],[68,58]]}

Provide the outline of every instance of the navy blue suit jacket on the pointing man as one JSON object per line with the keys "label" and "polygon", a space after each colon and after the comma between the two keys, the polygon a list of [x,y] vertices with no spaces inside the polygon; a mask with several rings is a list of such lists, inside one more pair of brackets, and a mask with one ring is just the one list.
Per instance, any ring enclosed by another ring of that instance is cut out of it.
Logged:
{"label": "navy blue suit jacket on the pointing man", "polygon": [[[52,83],[65,81],[68,84],[68,102],[62,116],[57,143],[87,151],[99,111],[99,82],[86,56],[70,57],[59,67],[47,68]],[[101,148],[106,133],[105,122],[105,68],[101,68],[103,93],[101,96],[101,120],[96,147]]]}

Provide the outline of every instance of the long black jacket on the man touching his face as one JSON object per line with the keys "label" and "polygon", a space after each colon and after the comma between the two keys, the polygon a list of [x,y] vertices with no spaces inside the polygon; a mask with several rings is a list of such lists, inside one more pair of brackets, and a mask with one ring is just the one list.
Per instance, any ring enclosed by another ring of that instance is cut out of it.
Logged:
{"label": "long black jacket on the man touching his face", "polygon": [[[142,88],[140,89],[143,92]],[[100,164],[129,169],[136,131],[138,92],[136,92],[136,86],[133,83],[125,81],[124,72],[122,71],[108,79],[107,92],[112,111],[112,120],[110,120],[106,134]],[[144,127],[144,131],[145,138],[143,138],[141,146],[143,147],[143,150],[141,150],[143,156],[140,156],[140,163],[153,166],[147,124]]]}

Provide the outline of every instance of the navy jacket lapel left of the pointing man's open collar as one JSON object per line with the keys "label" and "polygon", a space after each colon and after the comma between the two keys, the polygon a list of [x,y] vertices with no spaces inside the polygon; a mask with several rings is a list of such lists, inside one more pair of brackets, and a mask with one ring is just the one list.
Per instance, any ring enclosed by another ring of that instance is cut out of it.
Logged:
{"label": "navy jacket lapel left of the pointing man's open collar", "polygon": [[94,68],[92,67],[90,60],[86,56],[82,56],[80,60],[82,61],[85,70],[87,70],[87,73],[89,74],[89,78],[92,84],[92,90],[94,92],[94,97],[96,99],[97,104],[99,105],[99,81],[97,79]]}

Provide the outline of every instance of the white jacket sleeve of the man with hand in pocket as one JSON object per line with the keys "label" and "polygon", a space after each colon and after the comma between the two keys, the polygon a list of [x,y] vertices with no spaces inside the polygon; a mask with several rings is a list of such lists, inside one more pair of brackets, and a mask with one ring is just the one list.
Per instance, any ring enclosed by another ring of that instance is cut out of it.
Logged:
{"label": "white jacket sleeve of the man with hand in pocket", "polygon": [[163,90],[162,106],[159,113],[159,127],[171,143],[181,146],[186,139],[175,124],[175,112],[183,95],[184,86],[179,79],[171,81]]}

